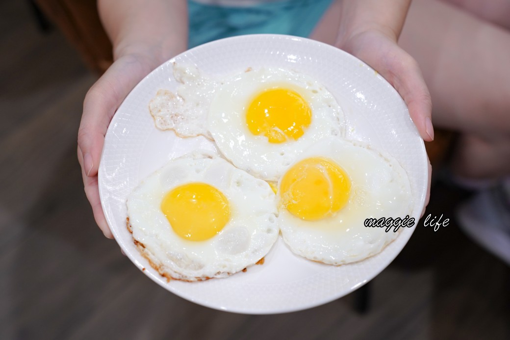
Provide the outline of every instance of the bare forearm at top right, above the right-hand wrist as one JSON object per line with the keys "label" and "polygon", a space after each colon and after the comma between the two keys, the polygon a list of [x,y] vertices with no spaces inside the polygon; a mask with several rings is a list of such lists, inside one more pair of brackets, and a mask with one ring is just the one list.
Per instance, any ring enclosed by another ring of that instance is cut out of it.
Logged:
{"label": "bare forearm at top right, above the right-hand wrist", "polygon": [[337,42],[368,30],[396,41],[410,5],[411,0],[343,0]]}

